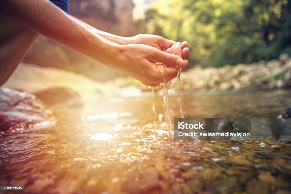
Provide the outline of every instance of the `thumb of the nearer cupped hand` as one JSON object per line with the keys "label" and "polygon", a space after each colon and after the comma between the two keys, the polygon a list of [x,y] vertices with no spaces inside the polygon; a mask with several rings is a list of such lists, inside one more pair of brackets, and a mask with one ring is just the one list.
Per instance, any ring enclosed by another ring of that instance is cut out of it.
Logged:
{"label": "thumb of the nearer cupped hand", "polygon": [[168,67],[174,68],[181,68],[186,65],[184,63],[184,60],[180,57],[166,52],[162,52],[160,50],[156,50],[156,52],[151,53],[149,60],[155,63],[162,63]]}

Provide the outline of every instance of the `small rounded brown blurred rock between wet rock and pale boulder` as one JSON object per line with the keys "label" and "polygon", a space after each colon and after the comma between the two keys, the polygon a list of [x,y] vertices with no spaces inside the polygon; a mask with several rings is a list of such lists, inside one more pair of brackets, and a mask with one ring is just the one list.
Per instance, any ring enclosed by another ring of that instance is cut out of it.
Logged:
{"label": "small rounded brown blurred rock between wet rock and pale boulder", "polygon": [[81,96],[68,87],[54,87],[34,93],[47,105],[67,104],[71,107],[83,105]]}

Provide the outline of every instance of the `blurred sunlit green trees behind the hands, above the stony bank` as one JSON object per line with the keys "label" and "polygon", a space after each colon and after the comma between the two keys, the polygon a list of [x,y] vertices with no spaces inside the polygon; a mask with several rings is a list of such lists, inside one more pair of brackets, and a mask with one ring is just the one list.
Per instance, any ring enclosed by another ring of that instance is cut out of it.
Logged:
{"label": "blurred sunlit green trees behind the hands, above the stony bank", "polygon": [[186,40],[190,66],[222,66],[291,54],[287,0],[159,0],[139,20],[140,30]]}

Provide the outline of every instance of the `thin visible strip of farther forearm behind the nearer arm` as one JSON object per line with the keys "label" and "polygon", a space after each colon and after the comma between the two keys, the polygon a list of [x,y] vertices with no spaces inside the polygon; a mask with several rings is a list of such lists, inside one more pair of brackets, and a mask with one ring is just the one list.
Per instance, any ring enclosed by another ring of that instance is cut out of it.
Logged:
{"label": "thin visible strip of farther forearm behind the nearer arm", "polygon": [[77,17],[71,16],[72,18],[74,18],[75,20],[77,20],[78,22],[80,22],[81,24],[83,24],[85,27],[87,27],[88,29],[92,30],[93,32],[99,34],[100,36],[102,36],[103,38],[106,38],[114,43],[117,43],[119,45],[127,45],[129,44],[129,39],[130,37],[123,37],[123,36],[117,36],[108,32],[104,32],[102,30],[99,30],[93,26],[91,26],[90,24],[87,24],[86,22],[83,22],[82,20],[78,19]]}

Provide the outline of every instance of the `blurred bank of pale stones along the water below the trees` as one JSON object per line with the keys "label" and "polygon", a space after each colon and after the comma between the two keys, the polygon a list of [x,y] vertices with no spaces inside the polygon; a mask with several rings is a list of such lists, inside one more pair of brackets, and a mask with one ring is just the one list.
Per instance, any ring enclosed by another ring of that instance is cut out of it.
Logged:
{"label": "blurred bank of pale stones along the water below the trees", "polygon": [[[148,87],[132,77],[110,81],[119,87],[134,85],[143,91]],[[291,86],[291,58],[281,54],[277,60],[252,64],[202,68],[200,65],[181,74],[181,89],[195,91],[256,91],[282,89]],[[176,79],[172,81],[176,89]]]}

